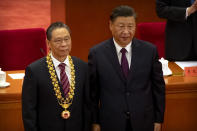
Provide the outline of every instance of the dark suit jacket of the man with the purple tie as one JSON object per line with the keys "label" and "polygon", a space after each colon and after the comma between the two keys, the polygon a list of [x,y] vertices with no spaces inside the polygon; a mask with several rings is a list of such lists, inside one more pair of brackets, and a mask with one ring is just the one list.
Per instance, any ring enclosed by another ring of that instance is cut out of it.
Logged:
{"label": "dark suit jacket of the man with the purple tie", "polygon": [[112,39],[90,50],[88,64],[93,123],[99,123],[101,131],[124,131],[127,118],[133,131],[153,131],[154,122],[163,122],[165,83],[155,46],[132,41],[128,79],[123,77]]}

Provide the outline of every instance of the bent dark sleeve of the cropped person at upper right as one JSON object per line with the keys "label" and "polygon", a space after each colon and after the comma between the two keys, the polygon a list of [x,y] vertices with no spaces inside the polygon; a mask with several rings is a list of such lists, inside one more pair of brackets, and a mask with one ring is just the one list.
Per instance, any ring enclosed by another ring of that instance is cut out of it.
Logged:
{"label": "bent dark sleeve of the cropped person at upper right", "polygon": [[[177,0],[176,2],[179,2]],[[178,4],[178,3],[176,3]],[[160,18],[184,22],[186,21],[186,8],[173,6],[171,0],[156,0],[156,13]]]}

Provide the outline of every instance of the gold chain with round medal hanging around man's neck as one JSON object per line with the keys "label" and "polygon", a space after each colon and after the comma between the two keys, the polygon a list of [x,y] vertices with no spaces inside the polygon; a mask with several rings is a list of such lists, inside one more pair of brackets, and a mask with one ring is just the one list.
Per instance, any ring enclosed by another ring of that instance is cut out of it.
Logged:
{"label": "gold chain with round medal hanging around man's neck", "polygon": [[[69,60],[69,64],[71,67],[71,83],[70,83],[70,90],[68,92],[68,95],[66,98],[62,97],[61,91],[60,91],[60,86],[58,84],[58,80],[57,80],[57,76],[56,76],[56,72],[54,69],[54,65],[53,65],[53,61],[51,59],[51,54],[49,53],[46,57],[46,62],[48,64],[48,68],[49,68],[49,73],[50,73],[50,78],[52,80],[52,84],[53,84],[53,89],[55,91],[55,95],[57,97],[58,103],[62,106],[62,108],[64,108],[63,112],[67,112],[70,117],[70,112],[68,111],[68,108],[70,107],[70,105],[72,104],[73,101],[73,97],[74,97],[74,90],[75,90],[75,68],[74,68],[74,64],[72,61],[72,58],[70,55],[68,55],[68,60]],[[63,117],[64,115],[62,115]],[[69,117],[63,117],[63,119],[68,119]]]}

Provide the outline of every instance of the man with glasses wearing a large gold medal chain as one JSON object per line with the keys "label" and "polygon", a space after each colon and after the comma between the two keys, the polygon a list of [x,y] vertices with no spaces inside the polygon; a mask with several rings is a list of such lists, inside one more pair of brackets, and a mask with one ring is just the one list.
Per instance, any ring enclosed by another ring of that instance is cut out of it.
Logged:
{"label": "man with glasses wearing a large gold medal chain", "polygon": [[56,22],[47,29],[47,57],[30,64],[22,89],[25,131],[88,131],[88,66],[71,57],[67,25]]}

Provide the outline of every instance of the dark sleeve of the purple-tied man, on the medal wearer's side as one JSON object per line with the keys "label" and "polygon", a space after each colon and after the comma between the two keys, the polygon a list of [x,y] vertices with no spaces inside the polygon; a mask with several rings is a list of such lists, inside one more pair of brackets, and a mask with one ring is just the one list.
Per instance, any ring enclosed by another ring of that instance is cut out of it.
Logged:
{"label": "dark sleeve of the purple-tied man, on the medal wearer's side", "polygon": [[91,49],[88,55],[90,98],[92,101],[92,123],[99,124],[99,88],[96,69],[96,53]]}

